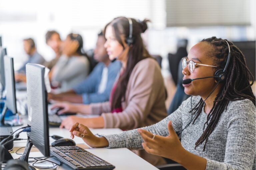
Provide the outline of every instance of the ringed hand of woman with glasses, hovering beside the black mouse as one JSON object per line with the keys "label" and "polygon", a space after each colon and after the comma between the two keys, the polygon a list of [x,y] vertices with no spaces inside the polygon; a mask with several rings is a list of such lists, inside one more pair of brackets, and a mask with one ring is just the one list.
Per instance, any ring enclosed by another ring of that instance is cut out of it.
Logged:
{"label": "ringed hand of woman with glasses, hovering beside the black mouse", "polygon": [[81,137],[83,141],[91,147],[107,147],[109,145],[105,137],[95,136],[89,128],[82,124],[75,123],[69,131],[72,139],[74,136]]}

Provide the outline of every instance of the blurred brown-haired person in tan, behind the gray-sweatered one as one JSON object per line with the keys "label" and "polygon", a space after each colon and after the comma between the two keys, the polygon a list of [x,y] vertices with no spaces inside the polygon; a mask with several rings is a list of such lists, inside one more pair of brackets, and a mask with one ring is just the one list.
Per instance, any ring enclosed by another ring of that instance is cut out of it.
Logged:
{"label": "blurred brown-haired person in tan, behind the gray-sweatered one", "polygon": [[44,63],[44,65],[51,70],[61,56],[62,41],[60,38],[60,34],[55,30],[47,31],[45,35],[45,39],[46,39],[46,44],[50,46],[55,52],[55,57],[51,61]]}

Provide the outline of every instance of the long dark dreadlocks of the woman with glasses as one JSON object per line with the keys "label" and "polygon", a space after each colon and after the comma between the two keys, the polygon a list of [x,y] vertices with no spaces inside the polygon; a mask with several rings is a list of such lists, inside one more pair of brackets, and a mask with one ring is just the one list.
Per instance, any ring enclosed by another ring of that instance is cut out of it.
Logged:
{"label": "long dark dreadlocks of the woman with glasses", "polygon": [[[221,87],[221,90],[219,91],[213,102],[213,107],[210,110],[210,113],[207,115],[207,121],[204,124],[203,134],[195,143],[196,148],[205,141],[203,151],[205,150],[208,137],[215,129],[220,119],[221,113],[225,109],[227,109],[229,101],[249,99],[255,105],[255,96],[253,95],[251,88],[254,80],[251,84],[249,81],[250,76],[253,79],[253,75],[246,66],[245,57],[243,53],[232,42],[229,42],[228,40],[226,41],[230,45],[231,52],[230,61],[227,67],[227,78],[226,81],[222,83],[223,85]],[[214,47],[215,51],[213,51],[213,53],[211,51],[212,55],[210,56],[214,57],[214,63],[223,69],[227,62],[228,56],[227,42],[222,39],[217,39],[216,37],[203,39],[201,42],[209,43]],[[203,108],[202,103],[203,100],[201,99],[196,105],[197,108],[195,107],[197,113],[193,124],[201,113],[201,110]],[[200,106],[200,108],[198,108],[198,106]],[[205,125],[207,125],[206,128]]]}

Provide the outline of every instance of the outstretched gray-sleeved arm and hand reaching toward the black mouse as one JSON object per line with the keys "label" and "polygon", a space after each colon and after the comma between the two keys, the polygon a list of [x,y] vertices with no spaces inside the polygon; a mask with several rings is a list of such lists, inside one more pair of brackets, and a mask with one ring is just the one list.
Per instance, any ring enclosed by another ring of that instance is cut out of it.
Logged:
{"label": "outstretched gray-sleeved arm and hand reaching toward the black mouse", "polygon": [[[181,130],[182,108],[187,105],[187,101],[184,101],[182,105],[173,114],[166,117],[162,121],[154,125],[144,127],[142,129],[145,129],[158,135],[166,136],[168,135],[168,129],[166,128],[166,125],[168,121],[172,120],[173,128],[175,129],[175,131]],[[71,138],[74,138],[74,136],[81,137],[81,134],[83,133],[85,135],[85,137],[83,137],[84,142],[86,142],[91,147],[127,147],[131,149],[142,149],[141,144],[143,140],[140,134],[138,133],[137,129],[124,131],[119,134],[102,135],[102,137],[96,137],[91,133],[88,127],[84,126],[83,123],[79,122],[78,120],[77,123],[74,123],[71,126],[69,131],[71,133]]]}

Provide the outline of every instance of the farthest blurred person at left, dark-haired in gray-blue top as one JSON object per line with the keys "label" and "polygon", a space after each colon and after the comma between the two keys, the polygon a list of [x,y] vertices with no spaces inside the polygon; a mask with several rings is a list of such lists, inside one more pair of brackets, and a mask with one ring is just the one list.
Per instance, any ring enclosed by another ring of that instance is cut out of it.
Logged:
{"label": "farthest blurred person at left, dark-haired in gray-blue top", "polygon": [[15,73],[15,80],[26,82],[26,64],[43,64],[45,63],[45,59],[41,54],[37,52],[35,42],[32,38],[24,39],[23,47],[29,58],[26,62],[24,62],[24,64],[17,71],[17,73]]}

